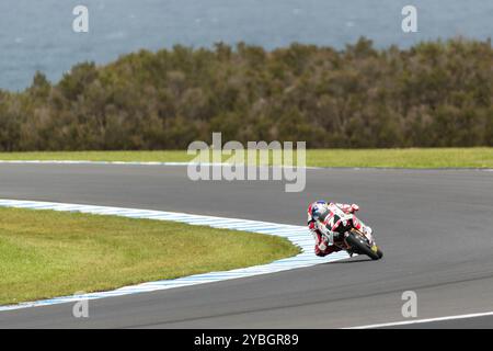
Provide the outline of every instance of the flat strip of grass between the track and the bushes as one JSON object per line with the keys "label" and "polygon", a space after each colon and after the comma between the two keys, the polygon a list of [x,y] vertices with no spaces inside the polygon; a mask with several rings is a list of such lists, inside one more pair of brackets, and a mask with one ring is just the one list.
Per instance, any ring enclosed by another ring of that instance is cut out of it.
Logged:
{"label": "flat strip of grass between the track and the bushes", "polygon": [[[186,151],[0,152],[0,160],[90,160],[184,162]],[[223,157],[226,160],[227,157]],[[493,148],[307,150],[307,166],[397,168],[493,168]]]}

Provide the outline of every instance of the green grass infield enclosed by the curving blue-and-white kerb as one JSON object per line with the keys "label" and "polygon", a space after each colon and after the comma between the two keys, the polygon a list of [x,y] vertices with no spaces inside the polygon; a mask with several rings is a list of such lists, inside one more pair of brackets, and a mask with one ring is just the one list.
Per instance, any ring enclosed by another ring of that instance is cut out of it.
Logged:
{"label": "green grass infield enclosed by the curving blue-and-white kerb", "polygon": [[0,208],[0,304],[295,256],[283,238],[116,216]]}

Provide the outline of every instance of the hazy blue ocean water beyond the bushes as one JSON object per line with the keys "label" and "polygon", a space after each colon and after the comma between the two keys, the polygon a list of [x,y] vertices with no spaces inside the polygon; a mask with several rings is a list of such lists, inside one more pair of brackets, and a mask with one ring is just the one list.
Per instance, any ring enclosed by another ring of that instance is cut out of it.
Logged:
{"label": "hazy blue ocean water beyond the bushes", "polygon": [[[89,33],[72,31],[78,4],[89,8]],[[417,8],[417,33],[401,30],[406,4]],[[362,35],[378,47],[485,39],[493,0],[1,0],[0,89],[24,89],[36,70],[57,81],[77,63],[104,64],[139,48],[240,41],[343,48]]]}

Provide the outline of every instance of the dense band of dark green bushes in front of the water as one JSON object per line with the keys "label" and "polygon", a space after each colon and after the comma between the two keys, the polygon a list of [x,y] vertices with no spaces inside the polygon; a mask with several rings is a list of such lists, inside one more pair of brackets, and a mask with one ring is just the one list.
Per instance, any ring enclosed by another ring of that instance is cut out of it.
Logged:
{"label": "dense band of dark green bushes in front of the water", "polygon": [[344,50],[141,50],[0,92],[0,150],[185,148],[307,140],[311,148],[493,146],[491,41]]}

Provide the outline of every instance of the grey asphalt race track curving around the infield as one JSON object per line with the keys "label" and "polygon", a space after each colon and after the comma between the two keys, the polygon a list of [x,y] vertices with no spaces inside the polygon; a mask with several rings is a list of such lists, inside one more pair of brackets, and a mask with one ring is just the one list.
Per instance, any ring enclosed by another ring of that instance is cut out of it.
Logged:
{"label": "grey asphalt race track curving around the infield", "polygon": [[[0,328],[332,328],[493,310],[493,172],[307,171],[302,193],[280,182],[192,182],[185,167],[0,165],[0,197],[177,211],[302,225],[310,201],[354,202],[385,258],[329,264],[72,305],[0,313]],[[185,252],[186,254],[186,252]],[[405,326],[404,326],[405,327]],[[408,327],[485,327],[493,317]]]}

